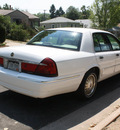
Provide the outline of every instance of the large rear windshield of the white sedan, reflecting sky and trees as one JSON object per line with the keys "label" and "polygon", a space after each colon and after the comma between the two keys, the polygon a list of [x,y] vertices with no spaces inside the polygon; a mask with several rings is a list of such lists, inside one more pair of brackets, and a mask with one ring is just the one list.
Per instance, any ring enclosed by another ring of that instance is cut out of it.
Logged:
{"label": "large rear windshield of the white sedan, reflecting sky and trees", "polygon": [[27,45],[39,45],[79,50],[82,34],[72,31],[45,30],[33,37]]}

